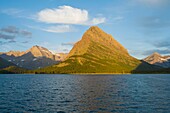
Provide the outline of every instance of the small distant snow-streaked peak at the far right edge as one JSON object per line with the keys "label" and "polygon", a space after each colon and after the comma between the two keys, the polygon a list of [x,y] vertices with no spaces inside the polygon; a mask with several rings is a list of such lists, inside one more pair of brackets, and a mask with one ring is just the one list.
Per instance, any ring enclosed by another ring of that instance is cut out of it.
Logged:
{"label": "small distant snow-streaked peak at the far right edge", "polygon": [[170,68],[170,56],[161,56],[159,53],[155,52],[152,55],[143,59],[149,64],[154,64],[164,68]]}

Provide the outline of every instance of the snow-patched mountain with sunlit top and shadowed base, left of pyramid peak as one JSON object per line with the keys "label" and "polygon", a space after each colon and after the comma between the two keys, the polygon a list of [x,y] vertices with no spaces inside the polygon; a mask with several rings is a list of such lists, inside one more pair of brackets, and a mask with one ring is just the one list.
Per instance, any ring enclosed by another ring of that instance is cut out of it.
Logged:
{"label": "snow-patched mountain with sunlit top and shadowed base, left of pyramid peak", "polygon": [[38,69],[61,62],[67,54],[53,54],[48,49],[40,46],[33,46],[27,51],[10,51],[1,53],[0,57],[8,62],[16,64],[25,69]]}

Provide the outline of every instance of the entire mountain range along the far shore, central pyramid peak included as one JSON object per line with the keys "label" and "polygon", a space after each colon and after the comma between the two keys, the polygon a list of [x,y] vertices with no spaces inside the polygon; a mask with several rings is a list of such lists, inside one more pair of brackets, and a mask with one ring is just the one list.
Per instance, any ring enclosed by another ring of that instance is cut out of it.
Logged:
{"label": "entire mountain range along the far shore, central pyramid peak included", "polygon": [[[143,60],[97,26],[90,27],[68,54],[33,46],[0,53],[0,73],[169,73],[169,56],[154,53]],[[165,69],[166,68],[166,69]]]}

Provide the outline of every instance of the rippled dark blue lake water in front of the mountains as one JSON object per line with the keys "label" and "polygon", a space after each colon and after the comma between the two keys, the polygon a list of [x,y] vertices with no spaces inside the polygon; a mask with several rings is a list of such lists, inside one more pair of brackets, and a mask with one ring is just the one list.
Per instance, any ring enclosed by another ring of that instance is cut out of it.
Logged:
{"label": "rippled dark blue lake water in front of the mountains", "polygon": [[170,75],[0,75],[0,112],[170,113]]}

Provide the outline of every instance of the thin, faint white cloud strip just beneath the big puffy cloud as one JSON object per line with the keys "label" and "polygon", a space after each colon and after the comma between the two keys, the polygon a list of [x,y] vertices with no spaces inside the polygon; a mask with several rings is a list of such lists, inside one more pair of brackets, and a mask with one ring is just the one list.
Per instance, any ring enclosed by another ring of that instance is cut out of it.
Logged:
{"label": "thin, faint white cloud strip just beneath the big puffy cloud", "polygon": [[65,33],[65,32],[74,32],[76,31],[75,28],[69,26],[69,25],[57,25],[57,26],[51,26],[45,29],[42,29],[47,32],[53,32],[53,33]]}

